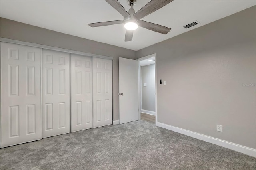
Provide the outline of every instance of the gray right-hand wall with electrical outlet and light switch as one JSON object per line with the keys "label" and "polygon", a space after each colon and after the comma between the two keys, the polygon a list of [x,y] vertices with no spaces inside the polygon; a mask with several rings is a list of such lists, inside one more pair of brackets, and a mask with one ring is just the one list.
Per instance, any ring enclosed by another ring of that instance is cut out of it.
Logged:
{"label": "gray right-hand wall with electrical outlet and light switch", "polygon": [[136,58],[153,53],[158,122],[256,148],[256,6],[136,51]]}

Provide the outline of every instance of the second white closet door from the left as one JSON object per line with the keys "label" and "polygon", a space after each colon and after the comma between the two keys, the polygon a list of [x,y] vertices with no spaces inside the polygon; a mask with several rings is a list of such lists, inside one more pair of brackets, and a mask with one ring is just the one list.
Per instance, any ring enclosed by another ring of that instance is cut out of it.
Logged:
{"label": "second white closet door from the left", "polygon": [[43,138],[70,132],[70,53],[42,49]]}

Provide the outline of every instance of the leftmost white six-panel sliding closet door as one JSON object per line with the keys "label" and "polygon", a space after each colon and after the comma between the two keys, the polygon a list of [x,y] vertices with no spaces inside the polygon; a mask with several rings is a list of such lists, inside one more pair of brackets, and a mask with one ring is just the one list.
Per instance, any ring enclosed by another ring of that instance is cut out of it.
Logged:
{"label": "leftmost white six-panel sliding closet door", "polygon": [[1,148],[41,139],[40,48],[1,42]]}

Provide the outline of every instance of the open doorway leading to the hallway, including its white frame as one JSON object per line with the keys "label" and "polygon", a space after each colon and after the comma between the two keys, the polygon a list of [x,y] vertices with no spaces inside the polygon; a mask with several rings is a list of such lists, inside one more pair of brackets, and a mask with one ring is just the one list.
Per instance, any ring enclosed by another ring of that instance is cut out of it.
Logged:
{"label": "open doorway leading to the hallway, including its white frame", "polygon": [[137,59],[139,61],[139,118],[156,123],[156,54]]}

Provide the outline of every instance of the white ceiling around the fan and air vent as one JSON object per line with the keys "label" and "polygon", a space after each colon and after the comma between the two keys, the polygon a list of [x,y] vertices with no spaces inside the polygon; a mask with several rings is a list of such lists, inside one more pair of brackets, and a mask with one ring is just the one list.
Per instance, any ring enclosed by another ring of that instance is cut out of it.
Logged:
{"label": "white ceiling around the fan and air vent", "polygon": [[[129,10],[127,0],[119,2]],[[135,12],[148,2],[149,0],[137,0]],[[0,3],[0,15],[3,18],[136,51],[256,5],[255,0],[174,0],[142,18],[172,28],[168,34],[139,27],[134,31],[133,40],[124,42],[123,24],[96,28],[87,25],[123,19],[122,15],[104,0],[1,0]],[[183,27],[195,20],[200,24],[188,29]]]}

